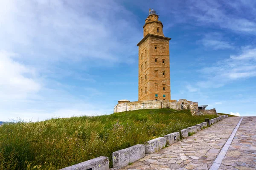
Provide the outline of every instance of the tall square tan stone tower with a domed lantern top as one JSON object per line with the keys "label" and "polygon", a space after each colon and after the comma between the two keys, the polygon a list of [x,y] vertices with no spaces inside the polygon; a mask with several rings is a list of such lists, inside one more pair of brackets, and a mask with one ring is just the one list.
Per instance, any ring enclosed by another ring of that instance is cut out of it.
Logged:
{"label": "tall square tan stone tower with a domed lantern top", "polygon": [[144,37],[139,46],[139,101],[170,100],[169,40],[154,9],[145,20]]}

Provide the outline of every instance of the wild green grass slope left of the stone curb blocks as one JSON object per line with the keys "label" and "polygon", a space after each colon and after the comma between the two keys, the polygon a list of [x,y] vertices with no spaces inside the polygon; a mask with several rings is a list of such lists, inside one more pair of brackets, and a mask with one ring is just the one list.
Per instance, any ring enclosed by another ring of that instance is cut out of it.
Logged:
{"label": "wild green grass slope left of the stone curb blocks", "polygon": [[0,126],[0,169],[60,169],[177,132],[215,115],[148,109]]}

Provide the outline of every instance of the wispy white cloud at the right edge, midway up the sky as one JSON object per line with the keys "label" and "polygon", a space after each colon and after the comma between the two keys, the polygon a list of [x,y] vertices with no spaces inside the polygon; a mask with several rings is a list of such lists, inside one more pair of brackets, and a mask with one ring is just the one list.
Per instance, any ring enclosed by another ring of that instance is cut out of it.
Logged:
{"label": "wispy white cloud at the right edge, midway up the sky", "polygon": [[255,48],[244,48],[239,55],[232,55],[212,67],[201,69],[200,73],[204,74],[207,80],[199,81],[197,85],[203,88],[217,88],[239,79],[256,77],[255,58]]}

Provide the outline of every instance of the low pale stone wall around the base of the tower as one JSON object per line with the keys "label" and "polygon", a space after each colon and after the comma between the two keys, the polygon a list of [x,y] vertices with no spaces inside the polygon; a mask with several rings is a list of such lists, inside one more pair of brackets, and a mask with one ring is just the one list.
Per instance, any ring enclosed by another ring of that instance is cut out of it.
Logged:
{"label": "low pale stone wall around the base of the tower", "polygon": [[135,111],[140,109],[160,109],[160,108],[172,108],[176,110],[180,109],[198,109],[197,102],[187,101],[186,99],[177,100],[145,100],[137,102],[124,102],[117,104],[114,107],[114,113],[124,111]]}

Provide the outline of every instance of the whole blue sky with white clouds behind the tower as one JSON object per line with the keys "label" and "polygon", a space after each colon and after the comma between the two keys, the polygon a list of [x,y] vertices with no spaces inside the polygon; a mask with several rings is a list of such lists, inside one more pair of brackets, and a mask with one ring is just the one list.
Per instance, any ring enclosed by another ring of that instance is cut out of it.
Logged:
{"label": "whole blue sky with white clouds behind the tower", "polygon": [[256,116],[255,0],[0,0],[0,120],[113,112],[138,100],[148,9],[170,41],[171,98]]}

